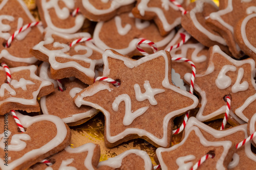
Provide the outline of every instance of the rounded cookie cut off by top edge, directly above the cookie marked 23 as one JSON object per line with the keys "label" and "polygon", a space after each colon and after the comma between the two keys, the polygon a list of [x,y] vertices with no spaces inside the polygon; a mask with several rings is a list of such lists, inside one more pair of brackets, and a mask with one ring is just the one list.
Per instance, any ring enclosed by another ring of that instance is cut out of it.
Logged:
{"label": "rounded cookie cut off by top edge, directly above the cookie marked 23", "polygon": [[81,14],[71,15],[75,10],[75,3],[75,0],[36,0],[44,27],[60,33],[78,32],[83,26],[84,17]]}

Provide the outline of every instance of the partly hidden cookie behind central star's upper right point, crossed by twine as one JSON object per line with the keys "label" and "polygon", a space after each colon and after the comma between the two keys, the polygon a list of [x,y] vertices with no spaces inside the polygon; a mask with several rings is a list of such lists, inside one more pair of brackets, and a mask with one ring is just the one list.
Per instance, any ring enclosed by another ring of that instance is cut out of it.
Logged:
{"label": "partly hidden cookie behind central star's upper right point, crossed by twine", "polygon": [[[185,30],[181,28],[173,40],[167,45],[165,50],[168,51],[170,46],[178,44],[182,40],[180,33],[183,33],[184,31]],[[193,37],[191,37],[185,44],[170,51],[170,56],[174,58],[184,57],[190,61],[193,61],[197,68],[197,74],[207,69],[207,55],[208,48],[195,40]],[[191,72],[191,65],[187,62],[174,61],[172,63],[172,68],[174,68],[175,71],[180,74],[182,79],[187,72]]]}

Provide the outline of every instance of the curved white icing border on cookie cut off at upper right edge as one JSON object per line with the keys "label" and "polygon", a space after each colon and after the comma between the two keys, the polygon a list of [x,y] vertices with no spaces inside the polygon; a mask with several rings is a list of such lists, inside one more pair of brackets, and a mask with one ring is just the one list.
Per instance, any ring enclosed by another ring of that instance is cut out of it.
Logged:
{"label": "curved white icing border on cookie cut off at upper right edge", "polygon": [[[256,7],[255,7],[256,8]],[[245,43],[245,45],[253,52],[253,53],[256,53],[256,48],[255,46],[253,46],[250,41],[248,40],[247,38],[247,35],[246,35],[246,25],[247,25],[247,22],[253,18],[253,17],[256,17],[256,14],[253,13],[253,14],[250,14],[248,15],[247,17],[244,18],[244,20],[242,21],[242,25],[241,25],[241,35],[242,35],[242,39]]]}

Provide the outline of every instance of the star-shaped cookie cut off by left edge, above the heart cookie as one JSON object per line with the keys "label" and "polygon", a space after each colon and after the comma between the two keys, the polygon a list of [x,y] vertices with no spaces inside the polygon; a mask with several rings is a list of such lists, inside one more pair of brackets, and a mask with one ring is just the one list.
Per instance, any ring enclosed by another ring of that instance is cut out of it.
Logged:
{"label": "star-shaped cookie cut off by left edge, above the heart cookie", "polygon": [[0,115],[10,110],[39,112],[37,97],[54,91],[51,82],[36,76],[37,66],[35,65],[10,68],[11,82],[9,84],[5,82],[7,77],[3,67],[0,67],[0,72]]}

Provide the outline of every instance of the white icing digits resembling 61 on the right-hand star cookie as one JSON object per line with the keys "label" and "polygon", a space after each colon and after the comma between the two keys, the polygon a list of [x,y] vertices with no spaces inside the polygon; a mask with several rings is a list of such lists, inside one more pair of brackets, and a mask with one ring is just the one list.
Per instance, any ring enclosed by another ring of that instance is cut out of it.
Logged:
{"label": "white icing digits resembling 61 on the right-hand star cookie", "polygon": [[[232,83],[232,80],[230,77],[228,77],[226,75],[226,73],[228,71],[236,71],[237,67],[233,66],[233,65],[224,65],[217,77],[217,79],[215,80],[215,83],[217,85],[217,87],[221,90],[226,89],[227,87],[229,87]],[[238,70],[238,76],[237,76],[237,80],[234,83],[234,85],[231,87],[231,91],[232,93],[237,93],[239,91],[245,91],[248,89],[249,84],[247,81],[244,81],[243,83],[240,84],[242,78],[244,76],[244,69],[243,68],[239,68]]]}

